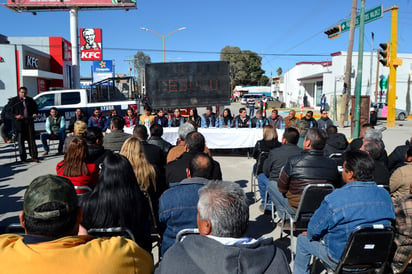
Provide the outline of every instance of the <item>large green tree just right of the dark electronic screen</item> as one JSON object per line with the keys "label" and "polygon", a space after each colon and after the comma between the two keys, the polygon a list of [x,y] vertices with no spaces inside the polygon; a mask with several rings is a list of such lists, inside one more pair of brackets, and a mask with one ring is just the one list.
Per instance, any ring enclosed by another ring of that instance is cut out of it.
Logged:
{"label": "large green tree just right of the dark electronic screen", "polygon": [[[237,85],[258,85],[268,82],[262,79],[262,57],[250,50],[226,46],[220,52],[220,60],[230,62],[230,85],[232,90]],[[266,77],[267,78],[267,77]]]}

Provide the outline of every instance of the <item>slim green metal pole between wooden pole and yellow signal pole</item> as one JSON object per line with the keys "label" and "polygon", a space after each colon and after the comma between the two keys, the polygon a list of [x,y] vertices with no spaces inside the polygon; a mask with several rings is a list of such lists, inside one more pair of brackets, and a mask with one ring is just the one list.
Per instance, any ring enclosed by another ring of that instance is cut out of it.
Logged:
{"label": "slim green metal pole between wooden pole and yellow signal pole", "polygon": [[358,72],[356,74],[355,111],[353,113],[354,125],[353,125],[353,130],[352,130],[352,138],[359,137],[359,122],[360,122],[360,112],[361,112],[360,105],[361,105],[361,94],[362,94],[364,30],[365,30],[365,0],[361,0],[361,12],[360,12],[360,23],[359,23]]}

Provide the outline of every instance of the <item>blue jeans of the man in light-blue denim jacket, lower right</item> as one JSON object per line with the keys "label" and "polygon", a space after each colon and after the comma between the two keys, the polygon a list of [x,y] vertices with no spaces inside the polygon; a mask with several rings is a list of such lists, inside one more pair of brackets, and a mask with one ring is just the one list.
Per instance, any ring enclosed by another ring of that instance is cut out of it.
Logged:
{"label": "blue jeans of the man in light-blue denim jacket, lower right", "polygon": [[336,269],[337,264],[332,261],[326,250],[325,245],[320,241],[310,241],[306,235],[300,234],[296,245],[296,257],[293,266],[293,273],[303,274],[310,273],[311,255],[322,260],[332,269]]}

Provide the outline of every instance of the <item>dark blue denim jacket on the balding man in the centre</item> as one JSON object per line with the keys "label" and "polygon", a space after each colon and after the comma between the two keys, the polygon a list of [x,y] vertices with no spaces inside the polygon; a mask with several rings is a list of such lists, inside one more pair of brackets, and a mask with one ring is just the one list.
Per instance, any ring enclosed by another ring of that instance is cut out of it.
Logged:
{"label": "dark blue denim jacket on the balding man in the centre", "polygon": [[164,230],[162,250],[173,245],[177,233],[184,228],[197,228],[198,190],[208,182],[205,178],[187,178],[166,190],[159,199],[159,222]]}

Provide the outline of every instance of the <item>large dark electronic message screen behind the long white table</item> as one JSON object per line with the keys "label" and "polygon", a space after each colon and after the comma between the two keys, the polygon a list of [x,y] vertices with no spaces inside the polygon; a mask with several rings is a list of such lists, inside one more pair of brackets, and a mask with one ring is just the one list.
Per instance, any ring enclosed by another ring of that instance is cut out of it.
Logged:
{"label": "large dark electronic message screen behind the long white table", "polygon": [[229,62],[146,64],[146,95],[154,108],[230,104]]}

